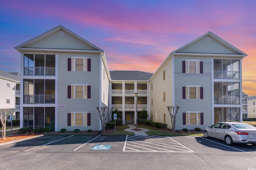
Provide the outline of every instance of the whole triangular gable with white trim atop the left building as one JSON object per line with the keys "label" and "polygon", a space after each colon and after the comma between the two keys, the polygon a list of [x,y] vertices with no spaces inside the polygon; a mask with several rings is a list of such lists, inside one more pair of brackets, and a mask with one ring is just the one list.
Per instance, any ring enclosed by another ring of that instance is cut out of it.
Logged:
{"label": "whole triangular gable with white trim atop the left building", "polygon": [[86,41],[82,37],[79,37],[72,31],[69,31],[62,25],[39,35],[21,45],[15,47],[15,49],[28,50],[28,49],[62,49],[62,50],[82,50],[82,51],[98,51],[103,52],[102,49],[96,47],[92,43]]}

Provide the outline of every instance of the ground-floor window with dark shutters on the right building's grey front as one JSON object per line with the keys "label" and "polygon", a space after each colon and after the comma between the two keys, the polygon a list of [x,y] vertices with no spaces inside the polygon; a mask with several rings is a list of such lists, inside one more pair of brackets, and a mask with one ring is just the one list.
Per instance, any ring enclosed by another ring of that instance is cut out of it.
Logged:
{"label": "ground-floor window with dark shutters on the right building's grey front", "polygon": [[183,125],[203,125],[204,113],[200,112],[186,112],[183,113]]}

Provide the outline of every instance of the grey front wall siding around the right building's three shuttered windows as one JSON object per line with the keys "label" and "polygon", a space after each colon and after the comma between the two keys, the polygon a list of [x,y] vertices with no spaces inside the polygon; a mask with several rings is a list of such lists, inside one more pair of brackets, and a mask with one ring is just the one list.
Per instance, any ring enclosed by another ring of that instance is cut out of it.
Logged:
{"label": "grey front wall siding around the right building's three shuttered windows", "polygon": [[[203,62],[203,74],[182,73],[182,61],[194,59]],[[174,56],[174,104],[180,106],[176,117],[176,129],[201,129],[212,124],[212,58]],[[182,99],[182,87],[203,87],[203,99]],[[182,113],[204,113],[204,125],[183,125]]]}

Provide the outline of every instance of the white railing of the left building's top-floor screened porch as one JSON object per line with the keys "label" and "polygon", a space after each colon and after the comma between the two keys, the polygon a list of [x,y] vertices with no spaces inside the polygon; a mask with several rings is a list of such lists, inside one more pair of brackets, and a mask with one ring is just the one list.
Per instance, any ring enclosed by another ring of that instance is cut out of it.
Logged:
{"label": "white railing of the left building's top-floor screened porch", "polygon": [[44,69],[46,76],[55,76],[55,68],[54,67],[24,67],[24,76],[44,76]]}

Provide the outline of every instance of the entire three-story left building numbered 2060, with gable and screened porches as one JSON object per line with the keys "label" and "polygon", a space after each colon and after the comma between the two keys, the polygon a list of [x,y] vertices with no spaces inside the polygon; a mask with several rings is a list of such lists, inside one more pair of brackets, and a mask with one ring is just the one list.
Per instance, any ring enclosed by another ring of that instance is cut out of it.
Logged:
{"label": "entire three-story left building numbered 2060, with gable and screened porches", "polygon": [[17,47],[21,53],[20,127],[99,130],[108,106],[104,51],[63,26]]}

